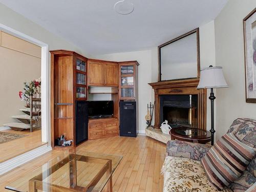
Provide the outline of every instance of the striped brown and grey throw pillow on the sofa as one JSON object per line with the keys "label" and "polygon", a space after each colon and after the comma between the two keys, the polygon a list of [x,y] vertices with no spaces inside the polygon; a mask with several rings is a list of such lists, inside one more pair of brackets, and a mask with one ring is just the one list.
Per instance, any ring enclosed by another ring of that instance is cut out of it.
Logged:
{"label": "striped brown and grey throw pillow on the sofa", "polygon": [[223,189],[242,175],[254,155],[254,148],[228,133],[210,148],[201,162],[209,181]]}

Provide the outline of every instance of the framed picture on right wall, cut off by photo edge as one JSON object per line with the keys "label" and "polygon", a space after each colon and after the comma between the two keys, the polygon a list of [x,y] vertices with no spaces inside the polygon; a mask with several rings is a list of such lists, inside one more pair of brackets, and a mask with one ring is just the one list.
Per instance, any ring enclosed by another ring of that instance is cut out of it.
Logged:
{"label": "framed picture on right wall, cut off by photo edge", "polygon": [[243,23],[246,102],[256,103],[256,8]]}

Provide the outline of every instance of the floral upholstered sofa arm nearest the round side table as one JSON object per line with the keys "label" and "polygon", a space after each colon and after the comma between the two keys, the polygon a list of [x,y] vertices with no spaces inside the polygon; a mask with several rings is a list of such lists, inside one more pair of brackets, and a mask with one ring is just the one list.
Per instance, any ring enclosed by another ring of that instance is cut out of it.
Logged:
{"label": "floral upholstered sofa arm nearest the round side table", "polygon": [[209,151],[210,145],[170,140],[166,144],[166,156],[184,157],[200,161]]}

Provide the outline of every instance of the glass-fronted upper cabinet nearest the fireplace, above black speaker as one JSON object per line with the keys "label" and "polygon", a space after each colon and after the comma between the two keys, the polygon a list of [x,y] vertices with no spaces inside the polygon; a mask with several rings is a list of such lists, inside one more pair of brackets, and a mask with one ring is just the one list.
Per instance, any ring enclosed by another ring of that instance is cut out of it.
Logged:
{"label": "glass-fronted upper cabinet nearest the fireplace, above black speaker", "polygon": [[120,100],[136,100],[138,98],[138,66],[137,61],[119,62],[119,98]]}

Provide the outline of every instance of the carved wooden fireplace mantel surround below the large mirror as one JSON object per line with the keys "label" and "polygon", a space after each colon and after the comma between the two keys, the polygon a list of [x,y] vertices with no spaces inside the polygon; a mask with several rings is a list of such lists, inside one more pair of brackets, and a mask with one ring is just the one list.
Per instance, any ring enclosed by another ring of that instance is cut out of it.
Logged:
{"label": "carved wooden fireplace mantel surround below the large mirror", "polygon": [[206,89],[197,90],[199,78],[148,83],[155,91],[155,124],[160,129],[160,95],[198,95],[198,129],[206,130]]}

